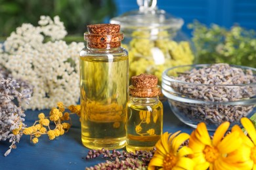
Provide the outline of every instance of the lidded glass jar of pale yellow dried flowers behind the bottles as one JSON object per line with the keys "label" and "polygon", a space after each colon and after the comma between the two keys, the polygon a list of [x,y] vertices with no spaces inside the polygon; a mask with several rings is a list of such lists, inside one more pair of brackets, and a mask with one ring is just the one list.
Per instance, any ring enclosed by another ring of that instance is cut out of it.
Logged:
{"label": "lidded glass jar of pale yellow dried flowers behind the bottles", "polygon": [[129,51],[129,76],[148,73],[158,76],[169,67],[194,62],[192,43],[181,31],[182,18],[158,10],[156,0],[137,0],[139,10],[112,18],[125,34],[122,42]]}

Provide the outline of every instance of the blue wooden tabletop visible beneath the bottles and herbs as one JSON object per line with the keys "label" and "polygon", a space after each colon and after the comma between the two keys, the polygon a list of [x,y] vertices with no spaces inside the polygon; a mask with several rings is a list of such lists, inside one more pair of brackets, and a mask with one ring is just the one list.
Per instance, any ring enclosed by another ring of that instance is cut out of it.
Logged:
{"label": "blue wooden tabletop visible beneath the bottles and herbs", "polygon": [[[171,112],[168,103],[163,103],[163,131],[173,133],[181,130],[182,132],[191,133],[193,128],[183,124]],[[32,126],[37,120],[37,115],[42,112],[35,110],[26,111],[26,124]],[[43,110],[45,114],[49,110]],[[72,115],[72,127],[68,133],[57,137],[54,141],[49,141],[48,137],[39,137],[39,143],[30,143],[30,136],[23,135],[20,143],[16,144],[17,148],[12,149],[11,154],[5,157],[6,150],[9,149],[10,143],[0,142],[0,170],[14,169],[85,169],[99,162],[105,161],[103,158],[95,160],[86,160],[88,149],[81,143],[81,130],[79,118]]]}

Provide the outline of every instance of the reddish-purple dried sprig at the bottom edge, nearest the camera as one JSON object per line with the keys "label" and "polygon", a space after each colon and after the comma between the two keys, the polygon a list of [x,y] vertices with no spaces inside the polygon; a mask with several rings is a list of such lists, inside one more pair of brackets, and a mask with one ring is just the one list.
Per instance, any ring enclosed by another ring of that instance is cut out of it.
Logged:
{"label": "reddish-purple dried sprig at the bottom edge, nearest the camera", "polygon": [[106,162],[98,163],[94,167],[86,167],[86,170],[98,170],[98,169],[147,169],[147,164],[134,158],[125,158],[125,160],[119,160],[116,158],[115,161],[106,160]]}

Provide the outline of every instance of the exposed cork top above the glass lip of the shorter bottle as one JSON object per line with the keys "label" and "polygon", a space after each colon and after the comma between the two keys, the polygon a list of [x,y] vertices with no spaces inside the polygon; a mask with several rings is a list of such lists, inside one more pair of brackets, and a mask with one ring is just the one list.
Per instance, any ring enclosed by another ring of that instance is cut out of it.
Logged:
{"label": "exposed cork top above the glass lip of the shorter bottle", "polygon": [[154,88],[158,85],[158,77],[143,73],[139,76],[132,76],[131,83],[135,88]]}

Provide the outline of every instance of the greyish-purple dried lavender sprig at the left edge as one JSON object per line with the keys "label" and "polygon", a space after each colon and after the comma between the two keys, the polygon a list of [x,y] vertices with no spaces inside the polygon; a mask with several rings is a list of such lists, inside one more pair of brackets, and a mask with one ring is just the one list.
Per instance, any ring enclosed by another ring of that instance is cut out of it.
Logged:
{"label": "greyish-purple dried lavender sprig at the left edge", "polygon": [[16,89],[20,88],[16,80],[11,78],[0,79],[0,141],[9,139],[11,146],[5,152],[5,156],[10,154],[12,148],[15,148],[15,143],[20,141],[22,130],[26,125],[24,122],[24,110],[17,107],[12,100],[15,98],[28,99],[30,91],[24,90],[20,93]]}

